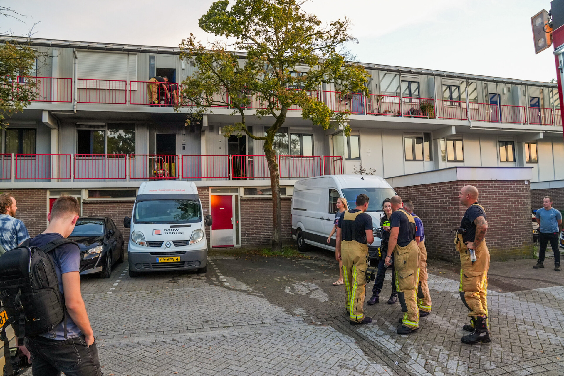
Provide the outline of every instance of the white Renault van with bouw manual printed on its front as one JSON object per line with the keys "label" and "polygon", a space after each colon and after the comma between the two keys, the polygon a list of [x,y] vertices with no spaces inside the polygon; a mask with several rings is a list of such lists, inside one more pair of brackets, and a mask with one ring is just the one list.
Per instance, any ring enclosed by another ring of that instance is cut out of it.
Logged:
{"label": "white Renault van with bouw manual printed on its front", "polygon": [[211,216],[202,214],[193,182],[143,182],[131,218],[127,258],[129,276],[139,272],[197,269],[208,271],[205,226]]}

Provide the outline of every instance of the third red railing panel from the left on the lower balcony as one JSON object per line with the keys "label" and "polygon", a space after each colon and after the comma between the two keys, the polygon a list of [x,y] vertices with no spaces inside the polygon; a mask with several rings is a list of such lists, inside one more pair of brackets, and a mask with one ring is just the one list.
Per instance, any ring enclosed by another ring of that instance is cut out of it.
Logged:
{"label": "third red railing panel from the left on the lower balcony", "polygon": [[125,179],[126,154],[74,154],[74,179]]}

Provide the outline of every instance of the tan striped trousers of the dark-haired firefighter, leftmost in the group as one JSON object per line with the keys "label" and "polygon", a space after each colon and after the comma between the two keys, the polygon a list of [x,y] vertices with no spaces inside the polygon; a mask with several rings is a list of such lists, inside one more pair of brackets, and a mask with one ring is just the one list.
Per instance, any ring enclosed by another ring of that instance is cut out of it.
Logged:
{"label": "tan striped trousers of the dark-haired firefighter, leftmost in the group", "polygon": [[341,241],[341,259],[349,319],[360,322],[364,319],[363,305],[366,269],[368,268],[368,245],[354,240]]}

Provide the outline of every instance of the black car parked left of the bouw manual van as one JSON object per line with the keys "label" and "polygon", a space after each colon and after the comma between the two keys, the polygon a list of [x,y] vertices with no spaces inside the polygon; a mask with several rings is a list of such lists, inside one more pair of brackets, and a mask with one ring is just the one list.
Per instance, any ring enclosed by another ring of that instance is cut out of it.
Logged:
{"label": "black car parked left of the bouw manual van", "polygon": [[68,237],[80,246],[80,274],[100,273],[109,278],[112,267],[124,261],[124,236],[107,216],[78,218]]}

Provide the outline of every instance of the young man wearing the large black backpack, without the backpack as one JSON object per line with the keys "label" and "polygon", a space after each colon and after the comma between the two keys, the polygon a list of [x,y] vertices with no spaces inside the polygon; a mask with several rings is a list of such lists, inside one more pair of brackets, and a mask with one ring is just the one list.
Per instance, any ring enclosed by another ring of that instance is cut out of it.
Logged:
{"label": "young man wearing the large black backpack, without the backpack", "polygon": [[[80,204],[74,197],[61,196],[47,216],[49,225],[34,237],[30,245],[41,247],[72,233],[80,215]],[[65,321],[52,331],[25,337],[25,347],[32,355],[34,376],[100,376],[100,361],[94,334],[80,292],[80,249],[74,244],[61,245],[50,253],[59,291],[63,294]]]}

